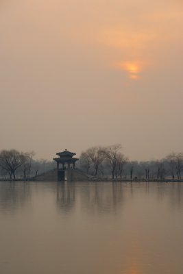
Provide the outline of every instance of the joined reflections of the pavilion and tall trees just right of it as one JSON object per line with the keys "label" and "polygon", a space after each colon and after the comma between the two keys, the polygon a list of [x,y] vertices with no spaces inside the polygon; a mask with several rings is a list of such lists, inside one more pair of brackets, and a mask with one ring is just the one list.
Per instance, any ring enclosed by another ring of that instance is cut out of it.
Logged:
{"label": "joined reflections of the pavilion and tall trees just right of it", "polygon": [[117,210],[123,201],[123,185],[103,182],[89,184],[58,183],[56,194],[60,210],[71,211],[76,203],[88,213],[105,213]]}

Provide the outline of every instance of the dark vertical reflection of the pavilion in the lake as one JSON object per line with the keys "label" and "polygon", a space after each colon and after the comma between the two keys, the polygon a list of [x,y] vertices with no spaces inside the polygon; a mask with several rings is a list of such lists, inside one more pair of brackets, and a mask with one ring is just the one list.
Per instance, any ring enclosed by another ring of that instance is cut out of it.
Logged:
{"label": "dark vertical reflection of the pavilion in the lake", "polygon": [[71,210],[75,205],[75,184],[58,183],[57,185],[57,205],[58,208]]}

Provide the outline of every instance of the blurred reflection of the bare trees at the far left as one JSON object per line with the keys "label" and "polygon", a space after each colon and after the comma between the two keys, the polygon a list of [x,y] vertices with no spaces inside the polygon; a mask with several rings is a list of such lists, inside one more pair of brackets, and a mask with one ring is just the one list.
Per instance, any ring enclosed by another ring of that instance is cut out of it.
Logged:
{"label": "blurred reflection of the bare trees at the far left", "polygon": [[27,183],[1,183],[0,205],[4,210],[18,210],[23,208],[30,199],[31,192]]}

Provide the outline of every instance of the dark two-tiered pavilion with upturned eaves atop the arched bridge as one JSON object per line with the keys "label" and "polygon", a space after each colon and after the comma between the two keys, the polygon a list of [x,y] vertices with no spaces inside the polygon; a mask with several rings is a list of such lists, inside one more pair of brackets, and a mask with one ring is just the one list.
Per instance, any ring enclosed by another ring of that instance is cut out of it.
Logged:
{"label": "dark two-tiered pavilion with upturned eaves atop the arched bridge", "polygon": [[65,151],[58,152],[56,153],[60,158],[54,158],[57,162],[57,169],[60,169],[60,164],[61,164],[61,169],[75,169],[75,162],[79,159],[73,158],[75,153],[70,152],[65,149]]}

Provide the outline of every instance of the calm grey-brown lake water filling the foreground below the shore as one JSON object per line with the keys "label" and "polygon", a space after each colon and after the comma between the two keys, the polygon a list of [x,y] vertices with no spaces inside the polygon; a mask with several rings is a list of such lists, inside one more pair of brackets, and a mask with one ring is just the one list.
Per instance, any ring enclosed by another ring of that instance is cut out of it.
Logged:
{"label": "calm grey-brown lake water filling the foreground below the shore", "polygon": [[183,184],[0,183],[2,274],[182,274]]}

